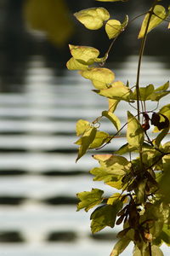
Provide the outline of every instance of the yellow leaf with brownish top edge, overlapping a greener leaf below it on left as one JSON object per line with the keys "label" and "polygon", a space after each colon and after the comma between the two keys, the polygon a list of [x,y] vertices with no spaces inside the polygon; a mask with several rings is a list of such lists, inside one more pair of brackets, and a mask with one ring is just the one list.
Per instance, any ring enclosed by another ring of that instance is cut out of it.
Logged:
{"label": "yellow leaf with brownish top edge, overlapping a greener leaf below it on left", "polygon": [[71,55],[83,65],[91,65],[94,59],[99,56],[99,50],[94,47],[78,46],[69,44]]}

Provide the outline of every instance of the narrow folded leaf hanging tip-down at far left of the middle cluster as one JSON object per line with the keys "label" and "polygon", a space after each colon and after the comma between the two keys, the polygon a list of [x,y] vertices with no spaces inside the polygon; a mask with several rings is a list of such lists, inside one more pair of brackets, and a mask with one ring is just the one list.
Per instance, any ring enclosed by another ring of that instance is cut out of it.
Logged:
{"label": "narrow folded leaf hanging tip-down at far left of the middle cluster", "polygon": [[83,137],[81,137],[78,140],[77,144],[81,145],[81,146],[80,146],[80,148],[78,148],[77,160],[79,160],[82,157],[82,155],[86,154],[90,144],[93,143],[93,141],[94,141],[96,131],[97,131],[97,129],[95,127],[90,127],[88,129],[88,131],[86,131],[83,134]]}

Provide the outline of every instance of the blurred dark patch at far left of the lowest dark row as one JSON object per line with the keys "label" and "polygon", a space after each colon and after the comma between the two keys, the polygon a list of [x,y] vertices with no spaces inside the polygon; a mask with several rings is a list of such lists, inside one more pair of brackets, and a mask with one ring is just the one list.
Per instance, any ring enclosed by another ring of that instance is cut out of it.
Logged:
{"label": "blurred dark patch at far left of the lowest dark row", "polygon": [[1,231],[0,242],[23,242],[23,236],[18,231]]}

